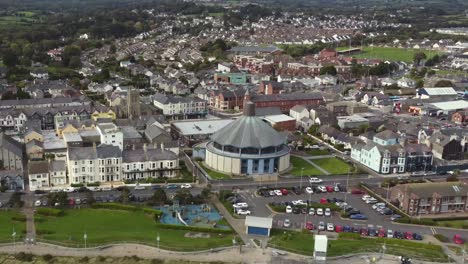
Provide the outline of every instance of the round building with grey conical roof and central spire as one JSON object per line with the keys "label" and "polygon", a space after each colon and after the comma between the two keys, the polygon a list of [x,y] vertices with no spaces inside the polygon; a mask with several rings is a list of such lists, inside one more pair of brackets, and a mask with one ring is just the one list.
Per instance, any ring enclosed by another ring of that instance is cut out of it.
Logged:
{"label": "round building with grey conical roof and central spire", "polygon": [[208,167],[233,175],[271,174],[289,168],[286,136],[255,116],[248,102],[244,115],[223,127],[206,143]]}

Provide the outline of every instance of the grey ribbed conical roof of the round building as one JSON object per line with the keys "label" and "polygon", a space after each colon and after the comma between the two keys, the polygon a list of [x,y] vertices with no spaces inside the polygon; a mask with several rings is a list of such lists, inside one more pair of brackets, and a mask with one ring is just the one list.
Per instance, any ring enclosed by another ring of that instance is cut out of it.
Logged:
{"label": "grey ribbed conical roof of the round building", "polygon": [[285,136],[255,116],[242,116],[218,130],[211,139],[220,145],[238,148],[266,148],[286,142]]}

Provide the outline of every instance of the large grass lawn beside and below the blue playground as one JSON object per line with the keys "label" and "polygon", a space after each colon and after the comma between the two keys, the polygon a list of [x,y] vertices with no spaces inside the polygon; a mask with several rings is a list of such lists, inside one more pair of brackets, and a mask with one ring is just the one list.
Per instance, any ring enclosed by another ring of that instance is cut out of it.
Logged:
{"label": "large grass lawn beside and below the blue playground", "polygon": [[188,238],[185,234],[192,231],[157,227],[152,216],[142,211],[75,209],[66,210],[61,217],[42,218],[36,222],[38,238],[76,247],[84,246],[85,232],[89,246],[124,241],[156,245],[159,233],[161,248],[183,251],[229,246],[233,238],[217,233],[210,238]]}

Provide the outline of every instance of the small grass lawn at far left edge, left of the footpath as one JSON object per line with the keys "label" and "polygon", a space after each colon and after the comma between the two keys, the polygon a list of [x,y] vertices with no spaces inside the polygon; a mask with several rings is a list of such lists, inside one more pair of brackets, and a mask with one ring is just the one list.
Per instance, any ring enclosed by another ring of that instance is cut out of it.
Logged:
{"label": "small grass lawn at far left edge, left of the footpath", "polygon": [[26,232],[26,223],[12,219],[12,217],[21,215],[18,211],[0,211],[0,242],[13,242],[13,229],[16,232],[16,241],[21,240]]}

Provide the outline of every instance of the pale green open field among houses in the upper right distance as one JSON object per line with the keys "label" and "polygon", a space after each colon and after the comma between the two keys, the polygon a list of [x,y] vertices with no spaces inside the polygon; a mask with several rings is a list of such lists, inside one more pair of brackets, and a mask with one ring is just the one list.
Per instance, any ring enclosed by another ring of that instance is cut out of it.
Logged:
{"label": "pale green open field among houses in the upper right distance", "polygon": [[[338,51],[346,50],[349,47],[339,47]],[[365,59],[380,59],[380,60],[389,60],[389,61],[404,61],[412,62],[414,53],[422,51],[426,54],[428,58],[433,57],[436,54],[440,54],[437,51],[432,50],[418,50],[418,49],[403,49],[403,48],[387,48],[387,47],[363,47],[362,53],[353,54],[355,58],[365,58]]]}

